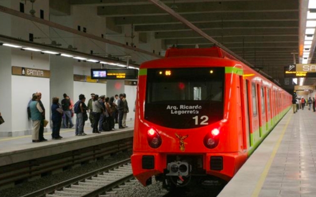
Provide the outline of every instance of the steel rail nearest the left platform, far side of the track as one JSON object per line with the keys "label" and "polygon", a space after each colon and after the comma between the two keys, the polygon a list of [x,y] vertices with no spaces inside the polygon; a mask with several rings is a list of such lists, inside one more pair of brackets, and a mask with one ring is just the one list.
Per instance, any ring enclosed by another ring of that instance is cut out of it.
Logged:
{"label": "steel rail nearest the left platform, far side of the track", "polygon": [[115,164],[111,164],[111,165],[108,165],[108,166],[105,166],[105,167],[102,167],[102,168],[99,168],[97,170],[93,170],[91,172],[88,172],[88,173],[85,173],[85,174],[82,174],[82,175],[79,175],[77,177],[74,177],[74,178],[71,178],[69,180],[66,180],[66,181],[63,181],[63,182],[60,182],[60,183],[57,183],[55,185],[52,185],[52,186],[49,186],[47,188],[44,188],[44,189],[41,189],[41,190],[38,190],[36,192],[33,192],[33,193],[30,193],[30,194],[27,194],[27,195],[24,195],[22,197],[42,197],[44,196],[45,194],[49,194],[51,192],[54,192],[55,190],[58,190],[58,189],[61,189],[63,187],[66,187],[66,186],[69,186],[71,184],[75,184],[81,180],[84,180],[86,178],[89,178],[91,176],[94,176],[96,174],[99,174],[101,172],[104,172],[104,171],[107,171],[107,170],[110,170],[110,169],[113,169],[113,168],[116,168],[120,165],[123,165],[123,164],[126,164],[126,163],[130,163],[130,159],[126,159],[126,160],[122,160],[118,163],[115,163]]}

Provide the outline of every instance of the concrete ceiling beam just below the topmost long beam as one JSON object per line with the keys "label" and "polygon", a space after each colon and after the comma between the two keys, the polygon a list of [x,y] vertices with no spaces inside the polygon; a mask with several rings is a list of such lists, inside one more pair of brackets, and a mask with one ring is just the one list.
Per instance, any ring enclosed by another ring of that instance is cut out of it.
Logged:
{"label": "concrete ceiling beam just below the topmost long beam", "polygon": [[[192,23],[205,22],[241,22],[241,21],[298,21],[298,12],[238,12],[238,13],[197,13],[183,14],[188,21]],[[181,24],[175,18],[165,16],[128,16],[114,17],[116,25],[162,25],[162,24]]]}

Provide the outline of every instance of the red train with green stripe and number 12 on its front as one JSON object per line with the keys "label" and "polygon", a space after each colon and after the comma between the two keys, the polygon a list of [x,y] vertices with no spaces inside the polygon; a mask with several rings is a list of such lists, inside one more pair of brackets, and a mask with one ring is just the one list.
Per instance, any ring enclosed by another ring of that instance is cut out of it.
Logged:
{"label": "red train with green stripe and number 12 on its front", "polygon": [[171,48],[140,66],[133,174],[144,186],[155,176],[167,189],[225,184],[291,100],[218,47]]}

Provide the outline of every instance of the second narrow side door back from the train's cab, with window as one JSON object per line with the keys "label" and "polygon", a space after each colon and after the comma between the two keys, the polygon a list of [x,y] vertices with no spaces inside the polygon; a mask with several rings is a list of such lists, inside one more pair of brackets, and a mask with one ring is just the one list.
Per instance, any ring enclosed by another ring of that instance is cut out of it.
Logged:
{"label": "second narrow side door back from the train's cab, with window", "polygon": [[251,83],[251,145],[255,144],[260,138],[259,131],[259,116],[258,116],[258,102],[257,102],[257,88],[254,82]]}

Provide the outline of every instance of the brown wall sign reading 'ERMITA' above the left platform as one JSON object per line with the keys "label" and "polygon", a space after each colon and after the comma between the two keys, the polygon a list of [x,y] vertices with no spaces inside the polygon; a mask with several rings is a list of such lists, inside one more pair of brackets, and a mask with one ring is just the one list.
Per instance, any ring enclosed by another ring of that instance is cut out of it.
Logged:
{"label": "brown wall sign reading 'ERMITA' above the left platform", "polygon": [[50,70],[12,66],[12,74],[13,75],[28,76],[28,77],[49,78],[50,77]]}

